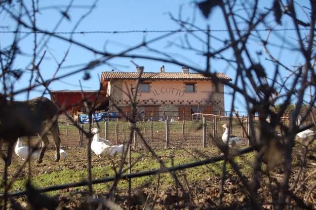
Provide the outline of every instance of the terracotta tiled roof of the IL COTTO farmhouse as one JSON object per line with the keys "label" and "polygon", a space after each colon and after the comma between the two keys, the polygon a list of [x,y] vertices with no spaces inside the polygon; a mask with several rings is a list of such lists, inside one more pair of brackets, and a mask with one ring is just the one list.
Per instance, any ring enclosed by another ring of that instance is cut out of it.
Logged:
{"label": "terracotta tiled roof of the IL COTTO farmhouse", "polygon": [[[110,79],[138,79],[140,73],[137,72],[116,72],[116,71],[103,71],[101,73],[104,80]],[[204,76],[201,73],[182,73],[182,72],[143,72],[142,79],[197,79],[197,80],[208,80],[212,77],[217,77],[219,79],[227,79],[232,81],[229,76],[226,76],[224,73],[210,73],[210,76]]]}

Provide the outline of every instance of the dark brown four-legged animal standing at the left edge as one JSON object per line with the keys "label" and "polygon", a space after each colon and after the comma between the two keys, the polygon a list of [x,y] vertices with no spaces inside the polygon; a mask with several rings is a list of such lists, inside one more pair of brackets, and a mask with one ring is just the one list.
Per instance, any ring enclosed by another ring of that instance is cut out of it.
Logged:
{"label": "dark brown four-legged animal standing at the left edge", "polygon": [[[50,131],[56,147],[56,162],[60,159],[60,137],[58,130],[58,110],[52,101],[37,97],[28,101],[9,101],[0,95],[0,155],[7,165],[11,164],[13,147],[19,137],[39,135],[41,150],[38,163],[42,162],[49,144],[47,132]],[[2,151],[7,142],[7,155]]]}

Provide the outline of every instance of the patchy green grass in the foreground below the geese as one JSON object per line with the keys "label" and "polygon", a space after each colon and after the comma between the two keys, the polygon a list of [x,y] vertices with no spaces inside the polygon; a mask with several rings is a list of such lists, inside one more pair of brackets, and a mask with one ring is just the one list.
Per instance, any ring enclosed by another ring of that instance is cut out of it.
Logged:
{"label": "patchy green grass in the foreground below the geese", "polygon": [[[25,190],[25,183],[28,179],[31,180],[32,184],[36,188],[43,188],[48,186],[55,186],[60,184],[68,184],[74,182],[80,182],[82,180],[87,180],[88,163],[87,163],[87,150],[86,148],[66,148],[67,159],[65,161],[54,162],[54,151],[49,149],[44,156],[43,163],[37,164],[35,162],[31,163],[30,167],[26,165],[20,173],[17,174],[19,168],[21,167],[23,161],[14,155],[12,164],[9,167],[9,179],[15,179],[9,192],[23,191]],[[160,162],[157,160],[153,154],[144,151],[131,151],[131,173],[139,173],[150,170],[155,170],[160,168]],[[221,152],[216,149],[204,148],[197,150],[160,150],[156,152],[158,159],[165,167],[178,166],[182,164],[192,163],[205,158],[215,157],[220,155]],[[248,155],[244,156],[244,160],[249,158]],[[240,159],[240,158],[238,158]],[[243,158],[241,158],[243,159]],[[240,161],[241,161],[240,159]],[[91,174],[92,179],[99,179],[104,177],[111,177],[115,175],[115,170],[118,170],[121,158],[117,156],[112,161],[109,159],[99,159],[94,153],[92,153],[91,160]],[[249,173],[251,171],[250,166],[246,167],[243,165],[243,172]],[[159,193],[166,193],[170,190],[175,190],[176,188],[182,187],[190,188],[190,186],[196,185],[201,181],[219,181],[221,171],[223,168],[223,162],[218,162],[215,164],[209,164],[205,166],[190,168],[175,173],[164,173],[161,175],[149,175],[142,176],[138,178],[131,179],[131,192],[132,197],[136,202],[139,202],[138,196],[134,194],[137,189],[142,190],[154,190],[157,189]],[[122,170],[124,174],[128,173],[128,164],[126,160],[123,164]],[[231,168],[227,168],[231,171]],[[3,175],[3,168],[1,169],[1,174]],[[214,176],[216,178],[214,178]],[[232,175],[229,175],[232,176]],[[178,179],[178,180],[177,180]],[[218,183],[217,183],[218,184]],[[127,196],[129,182],[127,180],[120,180],[117,185],[118,200],[125,198]],[[93,192],[94,196],[104,196],[108,197],[111,188],[113,187],[113,182],[94,184]],[[204,186],[205,187],[205,186]],[[2,189],[3,192],[3,189]],[[153,191],[154,192],[154,191]],[[171,192],[170,192],[171,193]],[[68,203],[77,203],[78,200],[81,203],[79,209],[84,209],[86,204],[86,196],[88,195],[88,187],[67,187],[62,190],[49,191],[46,192],[54,198],[58,198],[59,202],[61,200],[66,200]],[[136,196],[136,197],[135,197]],[[161,199],[164,197],[162,196]],[[19,203],[26,202],[26,196],[16,197]],[[68,200],[69,199],[69,200]],[[74,200],[73,200],[74,199]],[[143,198],[144,199],[144,198]],[[181,199],[180,199],[181,200]],[[3,202],[3,200],[2,200]],[[3,204],[3,203],[2,203]],[[60,208],[65,207],[67,204],[62,204]],[[79,204],[78,204],[79,205]],[[83,205],[83,206],[82,206]],[[122,203],[120,203],[122,205]],[[137,204],[139,205],[139,204]],[[165,204],[162,204],[164,206]],[[80,206],[80,205],[79,205]],[[122,205],[123,207],[124,205]],[[77,208],[74,208],[77,209]]]}

